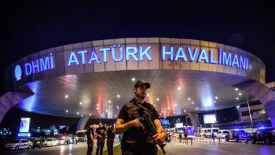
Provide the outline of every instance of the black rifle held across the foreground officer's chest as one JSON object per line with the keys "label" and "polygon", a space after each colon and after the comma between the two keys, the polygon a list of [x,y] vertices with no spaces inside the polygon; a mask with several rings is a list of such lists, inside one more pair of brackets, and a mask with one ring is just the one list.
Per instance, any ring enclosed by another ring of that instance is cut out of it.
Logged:
{"label": "black rifle held across the foreground officer's chest", "polygon": [[[138,114],[142,117],[140,121],[141,121],[142,125],[144,125],[145,130],[146,130],[151,136],[157,134],[157,130],[155,129],[155,126],[153,125],[153,123],[152,123],[152,121],[151,121],[151,119],[150,119],[149,114],[146,112],[145,107],[143,107],[142,105],[137,105],[137,112],[138,112]],[[155,142],[155,140],[154,140],[154,142]],[[165,152],[165,150],[164,150],[164,146],[165,146],[165,145],[166,145],[166,144],[161,144],[161,145],[159,145],[160,149],[162,149],[162,152],[163,152],[164,154],[166,154],[166,152]]]}

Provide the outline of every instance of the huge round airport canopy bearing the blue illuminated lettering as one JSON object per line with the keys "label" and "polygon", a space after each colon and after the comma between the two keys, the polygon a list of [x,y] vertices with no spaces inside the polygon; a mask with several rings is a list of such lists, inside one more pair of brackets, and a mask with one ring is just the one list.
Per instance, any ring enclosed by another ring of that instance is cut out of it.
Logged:
{"label": "huge round airport canopy bearing the blue illuminated lettering", "polygon": [[210,41],[125,38],[61,45],[12,63],[4,74],[0,120],[17,106],[54,116],[117,118],[135,81],[151,83],[146,101],[160,116],[221,110],[259,100],[275,126],[275,94],[265,64],[250,52]]}

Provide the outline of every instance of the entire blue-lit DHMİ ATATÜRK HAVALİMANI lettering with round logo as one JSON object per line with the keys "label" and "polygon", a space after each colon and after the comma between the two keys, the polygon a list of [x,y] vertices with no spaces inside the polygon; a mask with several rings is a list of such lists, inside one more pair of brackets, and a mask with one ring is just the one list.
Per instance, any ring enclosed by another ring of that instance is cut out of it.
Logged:
{"label": "entire blue-lit DHM\u0130 ATAT\u00dcRK HAVAL\u0130MANI lettering with round logo", "polygon": [[[157,48],[157,49],[154,49]],[[153,52],[159,52],[156,57]],[[99,56],[100,55],[100,56]],[[154,56],[152,56],[154,55]],[[65,66],[90,65],[93,63],[104,64],[110,61],[119,63],[121,61],[177,61],[177,62],[194,62],[209,63],[236,67],[241,70],[248,70],[249,59],[240,54],[233,54],[221,48],[218,50],[206,50],[206,48],[190,48],[190,46],[173,45],[121,45],[115,44],[102,48],[93,48],[91,50],[71,51],[64,58]],[[154,58],[154,59],[153,59]],[[14,78],[20,81],[22,78],[32,76],[33,74],[53,70],[55,66],[54,54],[50,53],[38,59],[28,61],[22,65],[16,65],[14,68]],[[63,66],[63,65],[62,65]]]}

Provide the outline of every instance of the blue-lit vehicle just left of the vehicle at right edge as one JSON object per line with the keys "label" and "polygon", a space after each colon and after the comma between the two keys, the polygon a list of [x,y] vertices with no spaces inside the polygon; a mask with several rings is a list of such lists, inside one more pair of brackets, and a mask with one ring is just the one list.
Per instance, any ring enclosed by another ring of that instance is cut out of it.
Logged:
{"label": "blue-lit vehicle just left of the vehicle at right edge", "polygon": [[244,130],[230,130],[228,135],[225,136],[225,141],[234,140],[235,142],[239,141],[250,141],[250,134]]}

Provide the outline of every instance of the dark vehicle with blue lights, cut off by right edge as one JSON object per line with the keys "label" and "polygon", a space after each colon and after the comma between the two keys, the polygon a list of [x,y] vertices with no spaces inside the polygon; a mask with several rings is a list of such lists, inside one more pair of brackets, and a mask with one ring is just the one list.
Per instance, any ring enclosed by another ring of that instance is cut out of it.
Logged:
{"label": "dark vehicle with blue lights, cut off by right edge", "polygon": [[275,127],[259,127],[259,129],[252,134],[251,142],[253,144],[256,142],[272,144],[275,142]]}

